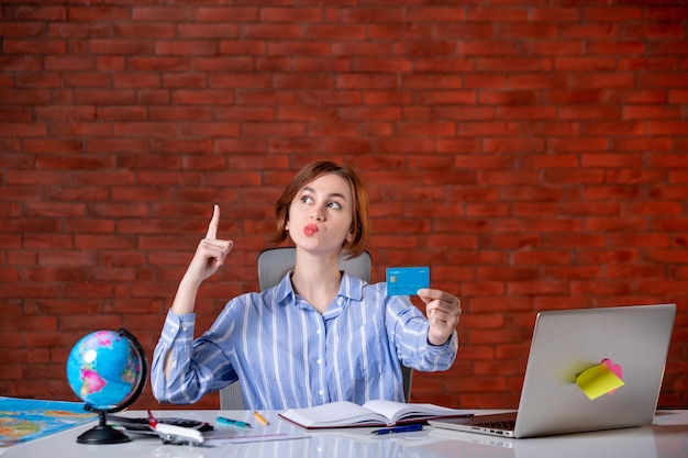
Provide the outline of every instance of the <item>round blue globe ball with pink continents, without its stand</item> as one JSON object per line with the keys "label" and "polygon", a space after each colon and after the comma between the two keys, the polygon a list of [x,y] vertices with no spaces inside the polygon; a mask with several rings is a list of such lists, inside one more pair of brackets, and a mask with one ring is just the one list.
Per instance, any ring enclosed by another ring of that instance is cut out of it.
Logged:
{"label": "round blue globe ball with pink continents, without its stand", "polygon": [[114,331],[88,334],[77,342],[67,359],[71,390],[98,410],[122,404],[141,378],[141,355],[129,338]]}

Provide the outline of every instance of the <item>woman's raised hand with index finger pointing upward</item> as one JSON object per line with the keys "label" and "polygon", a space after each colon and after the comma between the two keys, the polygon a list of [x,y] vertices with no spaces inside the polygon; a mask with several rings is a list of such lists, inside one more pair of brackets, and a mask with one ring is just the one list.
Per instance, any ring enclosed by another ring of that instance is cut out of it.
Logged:
{"label": "woman's raised hand with index finger pointing upward", "polygon": [[206,238],[198,244],[196,254],[185,275],[185,280],[199,286],[224,264],[224,259],[232,250],[234,243],[232,241],[218,239],[219,225],[220,205],[215,204]]}

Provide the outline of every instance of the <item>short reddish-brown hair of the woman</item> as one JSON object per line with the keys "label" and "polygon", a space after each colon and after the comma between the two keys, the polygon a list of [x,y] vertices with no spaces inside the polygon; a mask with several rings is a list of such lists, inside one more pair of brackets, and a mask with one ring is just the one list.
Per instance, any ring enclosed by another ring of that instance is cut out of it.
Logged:
{"label": "short reddish-brown hair of the woman", "polygon": [[335,174],[344,178],[348,183],[354,198],[352,215],[352,239],[344,241],[342,250],[346,258],[355,258],[362,255],[368,246],[368,192],[363,186],[358,175],[347,166],[339,166],[329,160],[317,160],[303,167],[291,180],[281,197],[275,204],[275,217],[277,228],[270,242],[281,243],[287,239],[287,221],[289,221],[289,206],[303,187],[326,174]]}

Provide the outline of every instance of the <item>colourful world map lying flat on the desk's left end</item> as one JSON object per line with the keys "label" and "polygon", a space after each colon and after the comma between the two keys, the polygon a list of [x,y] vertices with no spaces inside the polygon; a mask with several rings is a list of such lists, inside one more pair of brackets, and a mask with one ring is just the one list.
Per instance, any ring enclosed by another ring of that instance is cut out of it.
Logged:
{"label": "colourful world map lying flat on the desk's left end", "polygon": [[0,447],[37,439],[98,420],[82,402],[0,396]]}

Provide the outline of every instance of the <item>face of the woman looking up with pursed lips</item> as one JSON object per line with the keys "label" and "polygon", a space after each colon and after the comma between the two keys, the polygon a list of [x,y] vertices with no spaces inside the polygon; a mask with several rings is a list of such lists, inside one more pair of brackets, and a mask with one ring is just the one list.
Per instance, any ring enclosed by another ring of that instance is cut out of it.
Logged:
{"label": "face of the woman looking up with pursed lips", "polygon": [[326,174],[306,185],[289,206],[291,239],[309,250],[340,253],[352,238],[354,199],[348,182]]}

